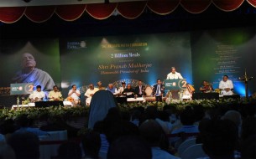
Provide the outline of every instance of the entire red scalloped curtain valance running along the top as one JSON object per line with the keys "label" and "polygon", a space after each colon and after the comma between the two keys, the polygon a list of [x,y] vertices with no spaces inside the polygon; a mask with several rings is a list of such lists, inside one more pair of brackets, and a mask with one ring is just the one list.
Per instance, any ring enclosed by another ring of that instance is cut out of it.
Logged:
{"label": "entire red scalloped curtain valance running along the top", "polygon": [[[154,13],[166,15],[175,11],[179,5],[190,13],[202,13],[212,3],[225,12],[239,8],[245,0],[149,0],[129,3],[97,3],[81,5],[44,6],[44,7],[10,7],[0,8],[0,21],[3,23],[15,23],[25,14],[35,23],[42,23],[56,13],[65,21],[74,21],[80,18],[86,11],[91,17],[105,19],[112,16],[115,10],[124,18],[138,18],[145,8]],[[247,0],[256,8],[256,0]]]}

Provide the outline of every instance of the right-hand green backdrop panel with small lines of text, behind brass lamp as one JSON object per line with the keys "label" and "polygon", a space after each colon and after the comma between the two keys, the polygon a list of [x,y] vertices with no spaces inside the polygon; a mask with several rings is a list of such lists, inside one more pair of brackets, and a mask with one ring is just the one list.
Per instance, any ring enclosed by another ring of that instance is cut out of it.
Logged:
{"label": "right-hand green backdrop panel with small lines of text, behind brass lamp", "polygon": [[191,33],[193,81],[198,91],[202,80],[218,88],[222,76],[232,80],[235,93],[245,95],[238,78],[244,70],[254,79],[248,82],[249,95],[256,91],[255,28],[228,28]]}

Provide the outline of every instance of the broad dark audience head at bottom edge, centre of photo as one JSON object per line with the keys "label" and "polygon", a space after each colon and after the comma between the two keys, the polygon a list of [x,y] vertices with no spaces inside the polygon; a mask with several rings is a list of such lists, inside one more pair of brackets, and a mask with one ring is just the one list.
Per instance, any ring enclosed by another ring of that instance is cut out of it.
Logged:
{"label": "broad dark audience head at bottom edge, centre of photo", "polygon": [[121,136],[113,141],[108,148],[107,159],[149,159],[152,158],[151,149],[138,136]]}

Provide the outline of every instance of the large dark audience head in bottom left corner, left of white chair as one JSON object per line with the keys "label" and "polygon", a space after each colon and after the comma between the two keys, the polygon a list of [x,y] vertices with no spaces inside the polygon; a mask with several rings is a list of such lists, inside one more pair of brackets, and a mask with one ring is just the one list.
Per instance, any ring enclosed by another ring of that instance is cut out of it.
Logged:
{"label": "large dark audience head in bottom left corner, left of white chair", "polygon": [[31,132],[14,132],[7,143],[13,148],[17,159],[39,158],[39,138]]}

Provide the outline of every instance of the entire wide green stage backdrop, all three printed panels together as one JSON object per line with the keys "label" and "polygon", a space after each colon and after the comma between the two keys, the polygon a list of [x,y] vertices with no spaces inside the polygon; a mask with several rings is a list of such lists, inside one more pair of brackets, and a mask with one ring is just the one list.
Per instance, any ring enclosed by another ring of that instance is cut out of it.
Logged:
{"label": "entire wide green stage backdrop, all three printed panels together", "polygon": [[[99,80],[104,86],[123,80],[137,82],[138,79],[146,85],[154,85],[156,79],[166,79],[172,66],[194,85],[196,91],[204,79],[218,88],[222,75],[227,74],[239,95],[245,95],[245,92],[238,77],[242,77],[247,69],[247,74],[254,77],[249,82],[250,94],[256,91],[255,28],[0,40],[0,105],[6,105],[2,99],[10,101],[7,98],[11,96],[10,84],[28,76],[20,74],[24,53],[34,56],[36,68],[53,80],[51,86],[61,83],[64,97],[73,84],[78,87],[90,83],[96,85]],[[29,83],[38,75],[24,82]]]}

